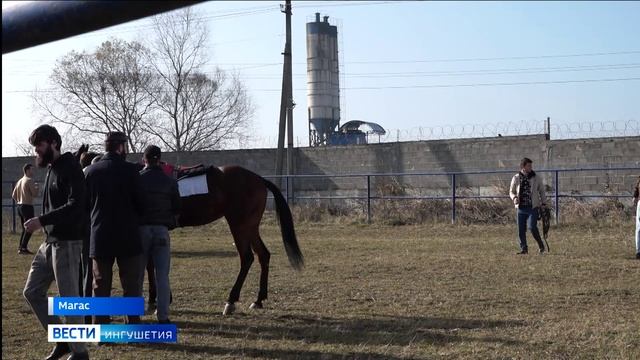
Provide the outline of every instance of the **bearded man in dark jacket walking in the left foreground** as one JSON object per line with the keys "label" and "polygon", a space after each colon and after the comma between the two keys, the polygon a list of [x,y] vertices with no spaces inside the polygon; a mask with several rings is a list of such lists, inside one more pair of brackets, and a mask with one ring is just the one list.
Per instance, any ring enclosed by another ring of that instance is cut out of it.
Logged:
{"label": "bearded man in dark jacket walking in the left foreground", "polygon": [[[48,315],[47,291],[53,281],[62,297],[79,295],[80,254],[82,253],[82,224],[85,216],[85,184],[80,164],[70,152],[60,153],[62,140],[56,128],[42,125],[29,136],[35,147],[36,164],[47,168],[44,184],[42,215],[24,224],[28,232],[44,227],[45,242],[33,258],[24,286],[24,297],[42,326],[59,324],[57,316]],[[66,316],[67,324],[81,324],[81,316]],[[68,360],[89,359],[84,343],[56,343],[47,360],[59,359],[71,352]]]}

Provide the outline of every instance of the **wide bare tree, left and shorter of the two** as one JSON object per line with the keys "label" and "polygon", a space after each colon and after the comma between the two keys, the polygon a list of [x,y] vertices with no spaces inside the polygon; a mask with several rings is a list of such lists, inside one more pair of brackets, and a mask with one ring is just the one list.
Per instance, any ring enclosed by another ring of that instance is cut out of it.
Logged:
{"label": "wide bare tree, left and shorter of the two", "polygon": [[45,121],[65,126],[65,138],[100,144],[107,132],[122,131],[137,152],[149,141],[142,128],[155,102],[149,92],[158,90],[147,59],[142,44],[119,39],[91,54],[72,51],[56,63],[54,90],[36,91],[34,99]]}

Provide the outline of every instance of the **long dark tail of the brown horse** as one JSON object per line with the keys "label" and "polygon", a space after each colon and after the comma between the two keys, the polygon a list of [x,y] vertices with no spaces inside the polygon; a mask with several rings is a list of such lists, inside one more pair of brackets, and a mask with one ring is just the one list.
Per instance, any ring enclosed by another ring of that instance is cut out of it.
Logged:
{"label": "long dark tail of the brown horse", "polygon": [[280,223],[280,231],[282,231],[282,240],[284,242],[284,249],[289,257],[289,263],[291,267],[296,270],[302,270],[304,267],[304,257],[298,246],[298,240],[296,239],[296,231],[293,228],[293,216],[291,216],[291,209],[287,204],[280,189],[271,181],[262,178],[264,185],[273,194],[273,199],[276,204],[276,214],[278,215],[278,223]]}

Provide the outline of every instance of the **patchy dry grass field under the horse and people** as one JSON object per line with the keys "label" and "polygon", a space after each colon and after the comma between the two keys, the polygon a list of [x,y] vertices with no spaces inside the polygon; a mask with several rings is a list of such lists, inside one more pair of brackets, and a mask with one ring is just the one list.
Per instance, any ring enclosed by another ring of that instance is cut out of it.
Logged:
{"label": "patchy dry grass field under the horse and people", "polygon": [[[231,317],[221,311],[239,261],[226,223],[180,229],[171,273],[178,344],[90,345],[91,357],[638,359],[632,225],[554,228],[550,254],[522,257],[513,226],[300,224],[307,266],[297,273],[269,221],[267,309],[248,309],[256,262]],[[51,345],[21,295],[31,258],[16,244],[4,236],[3,358],[44,358]]]}

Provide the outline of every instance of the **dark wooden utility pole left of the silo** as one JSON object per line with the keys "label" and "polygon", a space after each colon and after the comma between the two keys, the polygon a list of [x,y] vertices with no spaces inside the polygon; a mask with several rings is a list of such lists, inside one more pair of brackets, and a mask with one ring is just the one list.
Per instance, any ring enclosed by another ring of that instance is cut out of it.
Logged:
{"label": "dark wooden utility pole left of the silo", "polygon": [[[289,133],[291,140],[288,146],[293,145],[293,109],[292,109],[292,61],[291,61],[291,0],[287,0],[284,6],[280,5],[280,11],[286,15],[286,42],[284,45],[284,63],[282,66],[282,96],[280,97],[280,122],[278,126],[278,149],[276,151],[276,175],[282,175],[283,153],[284,153],[284,136],[289,123]],[[288,121],[287,121],[288,118]],[[292,149],[287,148],[287,173],[291,173],[290,152]]]}

